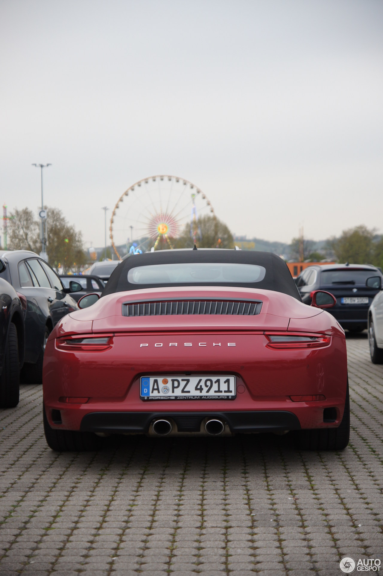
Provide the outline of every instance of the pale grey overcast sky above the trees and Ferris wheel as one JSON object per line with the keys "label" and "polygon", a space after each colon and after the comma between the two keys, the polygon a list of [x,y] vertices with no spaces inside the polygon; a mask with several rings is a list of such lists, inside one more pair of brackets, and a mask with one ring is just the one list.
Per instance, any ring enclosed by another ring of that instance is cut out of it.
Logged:
{"label": "pale grey overcast sky above the trees and Ferris wheel", "polygon": [[37,215],[51,162],[94,246],[155,174],[248,237],[383,233],[381,0],[0,0],[0,98],[1,202]]}

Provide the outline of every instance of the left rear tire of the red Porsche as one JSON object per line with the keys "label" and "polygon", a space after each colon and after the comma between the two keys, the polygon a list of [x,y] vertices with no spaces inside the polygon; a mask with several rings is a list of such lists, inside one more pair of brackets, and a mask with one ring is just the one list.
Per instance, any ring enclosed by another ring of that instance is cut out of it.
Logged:
{"label": "left rear tire of the red Porsche", "polygon": [[101,447],[101,438],[93,434],[93,432],[54,430],[48,422],[44,405],[43,423],[45,440],[55,452],[89,452]]}

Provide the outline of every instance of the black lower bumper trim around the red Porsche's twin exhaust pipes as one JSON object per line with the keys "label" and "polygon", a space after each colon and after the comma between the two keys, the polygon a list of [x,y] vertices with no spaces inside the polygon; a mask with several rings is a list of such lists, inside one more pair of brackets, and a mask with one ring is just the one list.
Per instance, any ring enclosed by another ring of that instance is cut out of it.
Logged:
{"label": "black lower bumper trim around the red Porsche's twin exhaust pipes", "polygon": [[279,432],[299,430],[295,414],[287,411],[248,412],[90,412],[81,420],[80,430],[98,433],[126,434],[149,432],[156,418],[173,420],[177,431],[199,432],[206,418],[226,422],[232,432]]}

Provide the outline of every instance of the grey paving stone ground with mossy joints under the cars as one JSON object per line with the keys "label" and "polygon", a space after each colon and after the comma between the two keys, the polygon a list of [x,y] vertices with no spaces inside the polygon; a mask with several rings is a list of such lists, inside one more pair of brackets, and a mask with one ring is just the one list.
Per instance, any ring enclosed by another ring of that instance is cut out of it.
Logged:
{"label": "grey paving stone ground with mossy joints under the cars", "polygon": [[[383,560],[383,365],[347,336],[351,441],[289,434],[45,444],[41,386],[0,411],[0,574],[342,574]],[[383,572],[383,567],[381,569]],[[355,572],[356,573],[356,572]]]}

